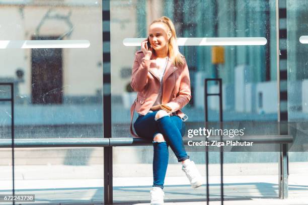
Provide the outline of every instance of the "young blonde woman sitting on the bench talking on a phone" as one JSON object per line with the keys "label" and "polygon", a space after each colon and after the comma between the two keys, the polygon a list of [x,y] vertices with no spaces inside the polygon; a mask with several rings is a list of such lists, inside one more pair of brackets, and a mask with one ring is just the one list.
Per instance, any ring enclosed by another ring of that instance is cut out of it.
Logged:
{"label": "young blonde woman sitting on the bench talking on a phone", "polygon": [[[149,43],[149,44],[148,44]],[[148,48],[148,45],[150,47]],[[135,137],[153,142],[153,187],[151,204],[164,203],[164,180],[170,146],[191,186],[202,185],[201,175],[189,160],[182,137],[187,116],[181,109],[191,98],[190,79],[185,57],[179,52],[172,21],[161,17],[148,28],[148,38],[141,42],[135,54],[131,78],[132,88],[138,92],[131,107],[131,116],[139,116],[134,123]]]}

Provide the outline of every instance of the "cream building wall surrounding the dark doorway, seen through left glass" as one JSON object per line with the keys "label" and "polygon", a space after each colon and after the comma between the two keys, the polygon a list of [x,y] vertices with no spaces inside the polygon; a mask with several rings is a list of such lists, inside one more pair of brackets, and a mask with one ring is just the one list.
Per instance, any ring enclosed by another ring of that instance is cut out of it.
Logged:
{"label": "cream building wall surrounding the dark doorway, seen through left glass", "polygon": [[[100,4],[100,3],[99,3]],[[91,45],[84,49],[62,49],[64,95],[94,95],[102,88],[102,9],[97,7],[38,7],[26,6],[22,13],[18,6],[0,7],[0,39],[31,40],[48,9],[51,15],[69,18],[73,30],[65,40],[89,40]],[[10,21],[8,21],[10,20]],[[48,19],[39,29],[39,36],[60,36],[69,31],[69,26],[59,19]],[[15,77],[18,67],[25,72],[25,82],[20,84],[20,94],[31,95],[31,49],[0,50],[0,77]]]}

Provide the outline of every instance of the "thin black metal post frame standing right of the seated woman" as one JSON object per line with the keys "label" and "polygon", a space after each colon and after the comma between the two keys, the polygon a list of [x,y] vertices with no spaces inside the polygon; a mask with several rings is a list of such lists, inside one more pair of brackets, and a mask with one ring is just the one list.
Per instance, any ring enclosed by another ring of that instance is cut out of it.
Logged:
{"label": "thin black metal post frame standing right of the seated woman", "polygon": [[[208,93],[207,92],[207,82],[208,81],[218,81],[219,92],[218,93]],[[221,78],[206,78],[204,81],[204,112],[205,112],[205,123],[208,122],[208,96],[219,96],[219,122],[220,129],[222,129],[222,79]],[[206,138],[207,141],[208,138]],[[220,142],[222,142],[222,135],[220,135]],[[206,161],[206,201],[209,204],[209,183],[208,183],[208,147],[205,146],[205,161]],[[220,200],[223,204],[223,148],[220,147]]]}

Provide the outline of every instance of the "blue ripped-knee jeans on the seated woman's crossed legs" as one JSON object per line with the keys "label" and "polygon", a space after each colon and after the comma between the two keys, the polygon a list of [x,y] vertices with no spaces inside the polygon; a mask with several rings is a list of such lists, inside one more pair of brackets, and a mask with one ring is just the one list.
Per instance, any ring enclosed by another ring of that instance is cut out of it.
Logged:
{"label": "blue ripped-knee jeans on the seated woman's crossed legs", "polygon": [[178,162],[189,159],[182,137],[185,134],[185,123],[178,116],[164,116],[157,121],[155,115],[158,111],[139,116],[134,128],[139,137],[153,141],[156,134],[161,133],[165,142],[153,141],[153,186],[164,188],[164,181],[168,166],[170,145]]}

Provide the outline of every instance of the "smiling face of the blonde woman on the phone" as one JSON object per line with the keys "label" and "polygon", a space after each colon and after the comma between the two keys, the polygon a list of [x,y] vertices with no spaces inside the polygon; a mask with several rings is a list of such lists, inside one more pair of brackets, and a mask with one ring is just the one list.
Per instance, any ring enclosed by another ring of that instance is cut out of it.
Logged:
{"label": "smiling face of the blonde woman on the phone", "polygon": [[148,39],[154,50],[167,48],[167,43],[171,37],[171,31],[163,23],[154,23],[148,29]]}

